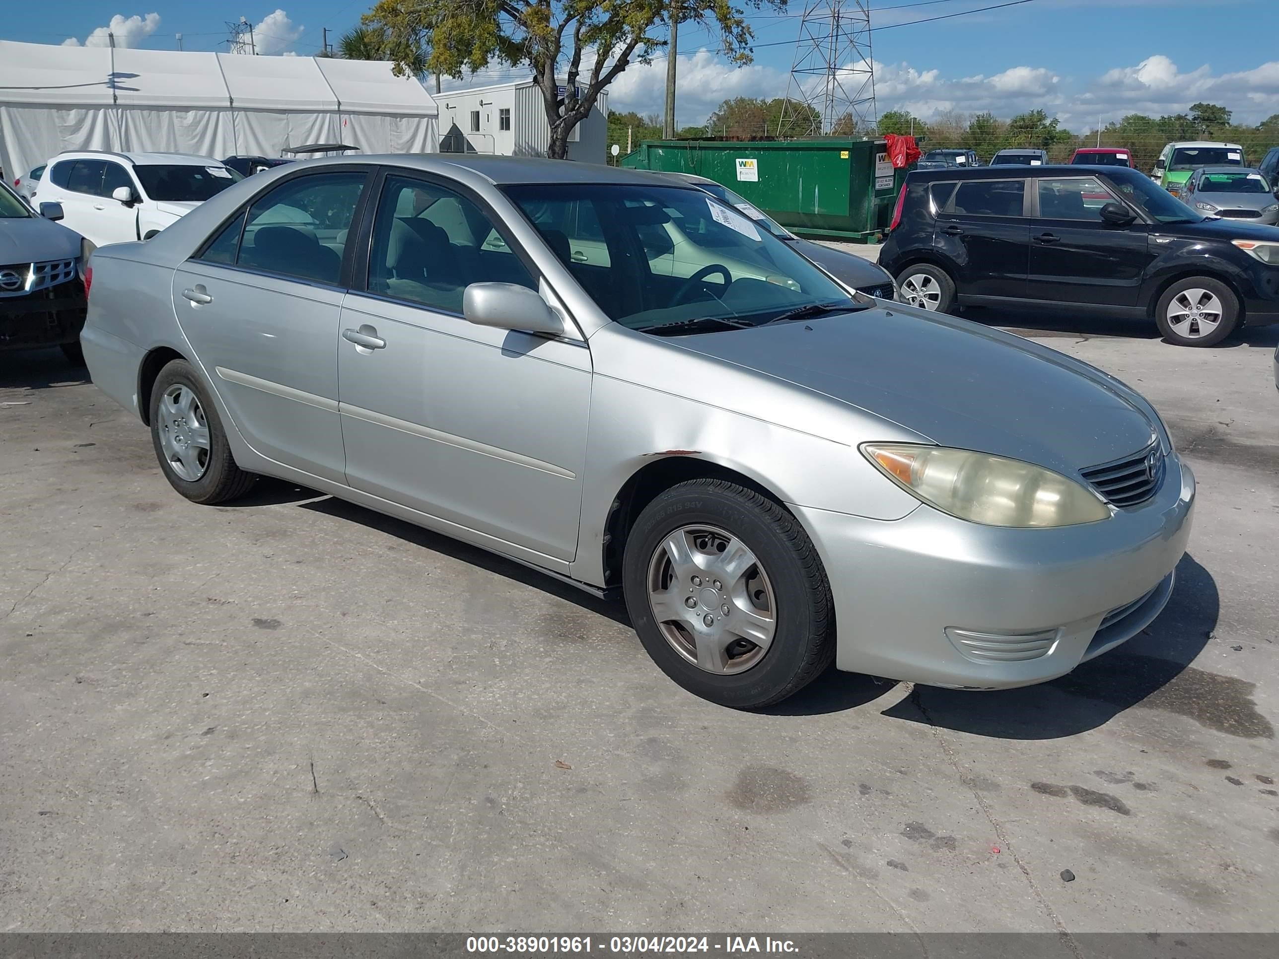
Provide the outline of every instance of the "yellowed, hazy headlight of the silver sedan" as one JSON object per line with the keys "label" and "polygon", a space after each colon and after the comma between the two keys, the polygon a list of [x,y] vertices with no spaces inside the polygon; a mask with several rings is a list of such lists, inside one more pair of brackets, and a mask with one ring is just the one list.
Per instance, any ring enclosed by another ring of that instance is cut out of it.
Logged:
{"label": "yellowed, hazy headlight of the silver sedan", "polygon": [[971,523],[1058,527],[1110,518],[1110,508],[1091,490],[1019,459],[904,442],[859,449],[907,492]]}

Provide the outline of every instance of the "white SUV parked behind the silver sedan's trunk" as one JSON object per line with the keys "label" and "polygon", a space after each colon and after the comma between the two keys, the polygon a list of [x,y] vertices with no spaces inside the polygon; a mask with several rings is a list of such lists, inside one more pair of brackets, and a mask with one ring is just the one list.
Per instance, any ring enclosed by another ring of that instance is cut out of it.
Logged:
{"label": "white SUV parked behind the silver sedan's trunk", "polygon": [[60,203],[64,225],[105,247],[151,239],[242,179],[208,156],[68,151],[49,161],[32,203]]}

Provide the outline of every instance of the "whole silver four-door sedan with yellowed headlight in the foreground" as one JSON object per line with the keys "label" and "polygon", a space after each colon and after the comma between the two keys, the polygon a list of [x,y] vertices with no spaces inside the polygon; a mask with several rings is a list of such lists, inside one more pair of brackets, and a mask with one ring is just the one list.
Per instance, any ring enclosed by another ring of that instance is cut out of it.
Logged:
{"label": "whole silver four-door sedan with yellowed headlight in the foreground", "polygon": [[642,173],[290,164],[98,249],[82,341],[187,499],[283,477],[624,596],[734,707],[831,662],[1059,676],[1159,615],[1189,536],[1193,476],[1122,382],[849,294]]}

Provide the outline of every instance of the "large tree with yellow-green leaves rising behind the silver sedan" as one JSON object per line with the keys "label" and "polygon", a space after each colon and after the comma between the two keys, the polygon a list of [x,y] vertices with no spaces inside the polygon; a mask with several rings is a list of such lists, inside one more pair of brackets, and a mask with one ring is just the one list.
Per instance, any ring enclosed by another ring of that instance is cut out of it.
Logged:
{"label": "large tree with yellow-green leaves rising behind the silver sedan", "polygon": [[[785,0],[741,3],[785,8]],[[550,125],[546,155],[561,160],[609,83],[666,46],[670,12],[668,0],[379,0],[363,23],[388,31],[399,75],[421,73],[420,61],[458,78],[495,63],[527,68]],[[679,19],[718,29],[730,63],[751,61],[755,33],[734,0],[683,0]]]}

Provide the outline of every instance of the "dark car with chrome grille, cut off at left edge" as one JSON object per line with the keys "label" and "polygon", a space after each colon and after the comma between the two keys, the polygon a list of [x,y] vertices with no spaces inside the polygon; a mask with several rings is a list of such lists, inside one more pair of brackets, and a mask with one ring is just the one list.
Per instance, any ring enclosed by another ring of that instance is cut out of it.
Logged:
{"label": "dark car with chrome grille, cut off at left edge", "polygon": [[12,189],[0,184],[0,350],[61,347],[81,362],[84,326],[82,238],[54,219],[37,216]]}

